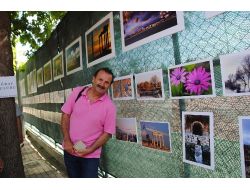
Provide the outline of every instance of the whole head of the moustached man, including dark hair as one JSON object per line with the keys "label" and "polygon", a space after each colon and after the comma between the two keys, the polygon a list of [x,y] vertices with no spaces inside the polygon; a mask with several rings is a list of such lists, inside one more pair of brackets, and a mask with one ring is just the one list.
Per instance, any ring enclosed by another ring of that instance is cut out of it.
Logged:
{"label": "whole head of the moustached man, including dark hair", "polygon": [[114,74],[109,68],[98,69],[93,76],[92,83],[95,91],[104,94],[111,86],[114,80]]}

